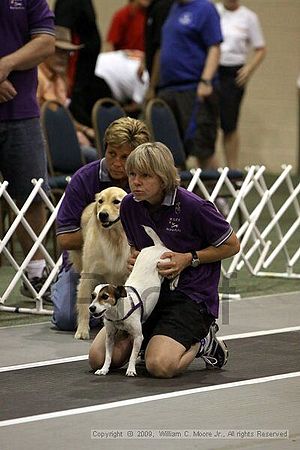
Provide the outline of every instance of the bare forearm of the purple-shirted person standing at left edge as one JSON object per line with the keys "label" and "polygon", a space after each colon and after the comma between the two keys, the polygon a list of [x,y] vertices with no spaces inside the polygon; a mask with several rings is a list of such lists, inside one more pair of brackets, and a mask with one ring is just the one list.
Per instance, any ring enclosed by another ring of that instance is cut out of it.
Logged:
{"label": "bare forearm of the purple-shirted person standing at left edge", "polygon": [[40,64],[55,51],[55,37],[38,34],[23,47],[0,58],[0,83],[14,70],[28,70]]}

